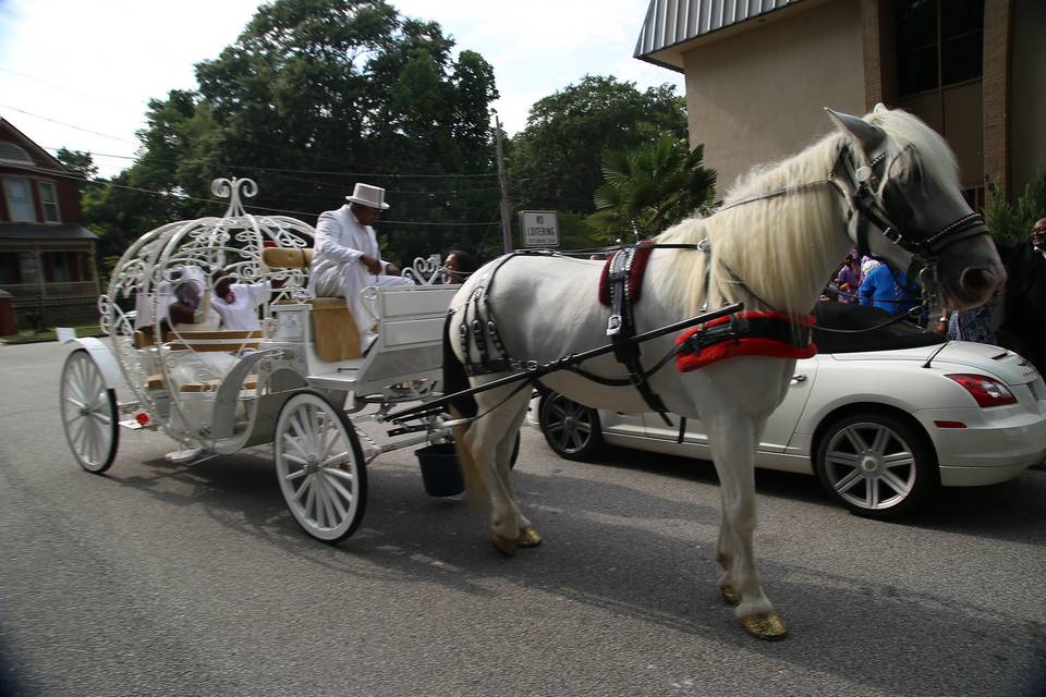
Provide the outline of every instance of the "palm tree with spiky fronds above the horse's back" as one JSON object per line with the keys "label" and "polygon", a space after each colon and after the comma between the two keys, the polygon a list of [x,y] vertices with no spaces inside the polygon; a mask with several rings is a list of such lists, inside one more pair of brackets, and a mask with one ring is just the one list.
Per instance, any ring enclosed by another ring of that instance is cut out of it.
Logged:
{"label": "palm tree with spiky fronds above the horse's back", "polygon": [[605,184],[596,189],[596,212],[587,222],[608,241],[655,235],[709,205],[716,172],[702,167],[704,145],[688,150],[670,135],[634,150],[608,150]]}

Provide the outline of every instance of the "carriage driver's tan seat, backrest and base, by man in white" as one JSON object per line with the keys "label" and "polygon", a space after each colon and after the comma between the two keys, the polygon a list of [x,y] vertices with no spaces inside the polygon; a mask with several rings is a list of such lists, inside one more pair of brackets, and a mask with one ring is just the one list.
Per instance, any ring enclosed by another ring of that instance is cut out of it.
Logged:
{"label": "carriage driver's tan seat, backrest and base, by man in white", "polygon": [[[313,250],[304,247],[267,247],[262,260],[276,269],[307,269]],[[320,360],[337,363],[363,357],[360,330],[343,297],[314,297],[313,342]]]}

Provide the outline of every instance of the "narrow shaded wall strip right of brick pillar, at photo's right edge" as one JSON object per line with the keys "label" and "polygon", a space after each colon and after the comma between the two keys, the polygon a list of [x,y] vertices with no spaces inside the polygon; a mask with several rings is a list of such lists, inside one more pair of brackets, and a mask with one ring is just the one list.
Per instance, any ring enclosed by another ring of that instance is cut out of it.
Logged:
{"label": "narrow shaded wall strip right of brick pillar, at photo's right edge", "polygon": [[1010,70],[1010,198],[1024,193],[1038,164],[1046,166],[1046,2],[1013,3]]}

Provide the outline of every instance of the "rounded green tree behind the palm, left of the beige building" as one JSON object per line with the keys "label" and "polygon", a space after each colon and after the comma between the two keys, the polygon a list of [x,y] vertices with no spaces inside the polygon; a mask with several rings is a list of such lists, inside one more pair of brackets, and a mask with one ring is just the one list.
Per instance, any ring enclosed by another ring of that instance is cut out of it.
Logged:
{"label": "rounded green tree behind the palm, left of the beige building", "polygon": [[512,195],[521,208],[595,210],[601,154],[630,150],[668,133],[686,136],[686,112],[671,85],[645,91],[634,83],[588,75],[538,100],[508,156]]}

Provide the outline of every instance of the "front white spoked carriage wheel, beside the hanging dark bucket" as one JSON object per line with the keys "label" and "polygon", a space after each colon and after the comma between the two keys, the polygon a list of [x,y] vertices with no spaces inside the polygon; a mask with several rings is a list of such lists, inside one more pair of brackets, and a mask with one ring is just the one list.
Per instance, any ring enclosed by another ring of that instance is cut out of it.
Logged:
{"label": "front white spoked carriage wheel, beside the hanging dark bucket", "polygon": [[295,394],[273,440],[280,490],[302,529],[324,542],[352,535],[366,508],[367,472],[344,413],[315,392]]}

